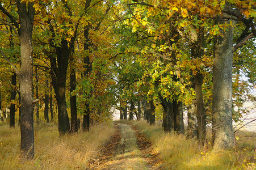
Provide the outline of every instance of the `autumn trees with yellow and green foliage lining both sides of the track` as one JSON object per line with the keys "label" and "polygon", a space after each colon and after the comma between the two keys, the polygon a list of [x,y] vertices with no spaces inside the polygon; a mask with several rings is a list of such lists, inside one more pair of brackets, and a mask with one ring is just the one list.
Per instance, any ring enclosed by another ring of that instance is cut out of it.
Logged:
{"label": "autumn trees with yellow and green foliage lining both sides of the track", "polygon": [[1,1],[0,11],[1,73],[14,87],[5,74],[0,91],[12,89],[15,104],[19,87],[24,157],[34,155],[33,107],[38,118],[38,101],[48,106],[51,89],[61,135],[78,131],[78,115],[84,130],[110,120],[112,107],[126,118],[127,103],[130,118],[145,107],[150,124],[161,105],[163,129],[184,133],[186,106],[188,135],[198,131],[204,143],[208,121],[213,147],[233,146],[232,116],[240,117],[233,105],[241,107],[255,79],[254,2],[15,0]]}

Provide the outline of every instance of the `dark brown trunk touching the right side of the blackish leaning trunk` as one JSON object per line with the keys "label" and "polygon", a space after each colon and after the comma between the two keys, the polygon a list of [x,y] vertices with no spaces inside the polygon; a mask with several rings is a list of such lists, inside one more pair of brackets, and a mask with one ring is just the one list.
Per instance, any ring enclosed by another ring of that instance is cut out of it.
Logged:
{"label": "dark brown trunk touching the right side of the blackish leaning trunk", "polygon": [[183,122],[183,108],[182,101],[177,102],[173,100],[173,123],[174,131],[183,134],[184,133],[184,122]]}

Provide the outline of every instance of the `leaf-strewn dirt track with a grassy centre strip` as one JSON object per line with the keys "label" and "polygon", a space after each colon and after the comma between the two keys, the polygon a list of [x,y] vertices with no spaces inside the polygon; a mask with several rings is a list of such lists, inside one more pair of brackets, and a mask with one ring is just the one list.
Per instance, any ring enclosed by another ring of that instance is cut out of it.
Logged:
{"label": "leaf-strewn dirt track with a grassy centre strip", "polygon": [[115,124],[115,134],[90,161],[91,169],[163,169],[160,155],[135,126]]}

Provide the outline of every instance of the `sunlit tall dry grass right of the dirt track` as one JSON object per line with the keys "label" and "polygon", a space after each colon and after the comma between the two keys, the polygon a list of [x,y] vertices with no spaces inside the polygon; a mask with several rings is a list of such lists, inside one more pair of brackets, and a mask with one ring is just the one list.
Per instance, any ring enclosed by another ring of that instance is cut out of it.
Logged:
{"label": "sunlit tall dry grass right of the dirt track", "polygon": [[[211,143],[199,148],[196,139],[165,133],[161,125],[150,126],[144,121],[132,122],[152,142],[160,153],[166,169],[256,169],[255,133],[240,131],[237,146],[230,151],[211,151]],[[247,135],[247,140],[243,141]],[[209,140],[210,141],[210,140]]]}

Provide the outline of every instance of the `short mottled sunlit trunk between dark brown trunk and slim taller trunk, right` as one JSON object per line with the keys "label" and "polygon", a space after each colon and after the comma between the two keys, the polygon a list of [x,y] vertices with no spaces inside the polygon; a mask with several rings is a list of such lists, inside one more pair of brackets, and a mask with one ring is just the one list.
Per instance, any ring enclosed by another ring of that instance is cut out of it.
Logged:
{"label": "short mottled sunlit trunk between dark brown trunk and slim taller trunk, right", "polygon": [[196,136],[196,101],[193,100],[192,104],[187,105],[187,136],[194,138]]}

